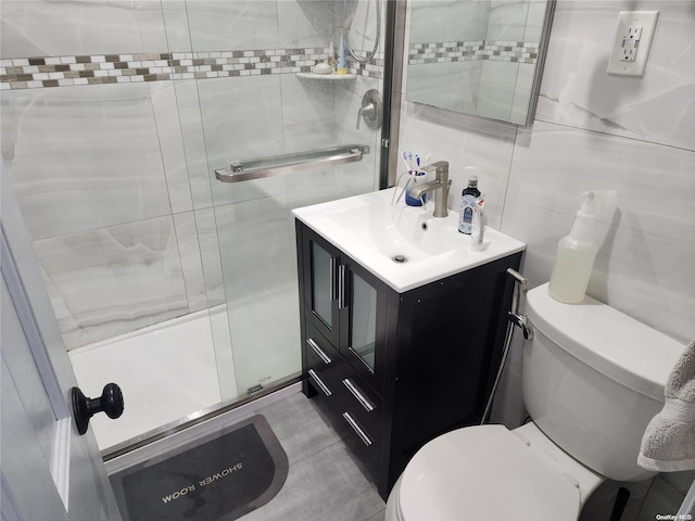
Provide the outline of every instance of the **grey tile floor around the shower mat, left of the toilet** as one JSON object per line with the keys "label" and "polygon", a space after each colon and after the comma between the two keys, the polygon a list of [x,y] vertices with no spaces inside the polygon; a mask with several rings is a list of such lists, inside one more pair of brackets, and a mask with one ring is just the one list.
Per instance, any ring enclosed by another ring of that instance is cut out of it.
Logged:
{"label": "grey tile floor around the shower mat, left of the toilet", "polygon": [[[358,463],[328,427],[314,403],[296,391],[298,386],[269,405],[233,415],[233,420],[228,423],[262,414],[280,441],[290,463],[287,481],[278,495],[240,520],[383,521],[386,504],[376,486],[365,478]],[[219,427],[216,425],[217,429]],[[200,431],[198,435],[210,432],[210,429],[202,428]],[[166,450],[172,444],[184,443],[184,439],[180,442],[168,440],[159,449]],[[150,448],[142,453],[140,459],[151,455]],[[123,461],[108,462],[106,469],[115,472],[136,460],[137,456],[131,455],[123,458]]]}

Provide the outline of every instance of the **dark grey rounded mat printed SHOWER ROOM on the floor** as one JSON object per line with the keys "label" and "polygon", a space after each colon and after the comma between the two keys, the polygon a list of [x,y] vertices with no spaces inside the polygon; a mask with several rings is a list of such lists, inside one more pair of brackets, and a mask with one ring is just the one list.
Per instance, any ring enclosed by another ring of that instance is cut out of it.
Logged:
{"label": "dark grey rounded mat printed SHOWER ROOM on the floor", "polygon": [[268,503],[288,460],[265,417],[110,476],[124,521],[232,521]]}

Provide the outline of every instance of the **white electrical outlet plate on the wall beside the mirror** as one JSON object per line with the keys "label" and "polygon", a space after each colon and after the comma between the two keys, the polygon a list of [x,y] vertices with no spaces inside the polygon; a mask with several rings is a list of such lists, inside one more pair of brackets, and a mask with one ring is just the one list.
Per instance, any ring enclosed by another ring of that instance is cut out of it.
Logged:
{"label": "white electrical outlet plate on the wall beside the mirror", "polygon": [[658,11],[620,11],[609,74],[644,76],[658,17]]}

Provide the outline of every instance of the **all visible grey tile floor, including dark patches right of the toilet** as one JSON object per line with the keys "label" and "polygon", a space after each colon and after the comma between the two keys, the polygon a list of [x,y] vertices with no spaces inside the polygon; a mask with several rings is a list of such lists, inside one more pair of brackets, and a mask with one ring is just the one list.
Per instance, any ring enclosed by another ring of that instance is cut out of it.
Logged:
{"label": "all visible grey tile floor, including dark patches right of the toilet", "polygon": [[[106,470],[116,472],[253,414],[262,414],[268,420],[288,456],[290,469],[278,495],[240,518],[241,521],[383,521],[386,504],[376,486],[328,427],[314,402],[300,392],[299,384],[109,461]],[[694,478],[695,471],[677,472],[630,485],[632,496],[622,521],[652,521],[659,519],[657,514],[675,513]],[[580,520],[608,519],[619,485],[624,484],[602,485]]]}

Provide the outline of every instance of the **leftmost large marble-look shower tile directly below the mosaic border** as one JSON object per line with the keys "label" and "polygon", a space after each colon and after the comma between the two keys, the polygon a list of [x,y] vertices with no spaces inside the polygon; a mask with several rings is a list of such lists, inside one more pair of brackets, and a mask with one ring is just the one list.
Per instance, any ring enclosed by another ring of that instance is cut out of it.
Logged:
{"label": "leftmost large marble-look shower tile directly below the mosaic border", "polygon": [[146,85],[4,92],[2,155],[34,239],[170,213]]}

